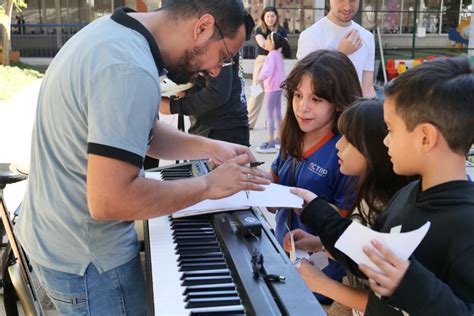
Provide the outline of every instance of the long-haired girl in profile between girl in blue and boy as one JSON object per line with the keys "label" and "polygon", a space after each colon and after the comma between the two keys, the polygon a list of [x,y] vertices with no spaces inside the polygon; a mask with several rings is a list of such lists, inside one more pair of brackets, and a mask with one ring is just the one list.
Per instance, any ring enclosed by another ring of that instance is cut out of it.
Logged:
{"label": "long-haired girl in profile between girl in blue and boy", "polygon": [[[340,171],[351,176],[347,196],[355,201],[350,211],[351,219],[372,226],[392,196],[409,183],[409,178],[396,175],[388,156],[383,139],[387,126],[383,119],[381,100],[359,100],[345,110],[338,122],[342,137],[336,144]],[[316,195],[303,189],[295,189],[306,195]],[[301,193],[298,193],[301,194]],[[319,237],[298,229],[292,232],[295,247],[306,251],[321,251],[323,245]],[[284,248],[289,250],[290,236],[285,236]],[[349,285],[329,279],[316,267],[303,262],[300,273],[308,287],[335,301],[354,309],[354,315],[365,311],[369,285],[367,280],[347,273]]]}

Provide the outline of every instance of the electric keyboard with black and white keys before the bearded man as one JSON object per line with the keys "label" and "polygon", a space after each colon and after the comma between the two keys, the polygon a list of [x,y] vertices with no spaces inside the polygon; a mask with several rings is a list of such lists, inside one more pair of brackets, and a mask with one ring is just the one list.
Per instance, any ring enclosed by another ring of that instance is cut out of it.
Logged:
{"label": "electric keyboard with black and white keys before the bearded man", "polygon": [[[152,170],[176,179],[208,167],[198,161]],[[249,210],[259,235],[238,229],[238,215]],[[260,214],[255,208],[145,221],[148,315],[325,315]]]}

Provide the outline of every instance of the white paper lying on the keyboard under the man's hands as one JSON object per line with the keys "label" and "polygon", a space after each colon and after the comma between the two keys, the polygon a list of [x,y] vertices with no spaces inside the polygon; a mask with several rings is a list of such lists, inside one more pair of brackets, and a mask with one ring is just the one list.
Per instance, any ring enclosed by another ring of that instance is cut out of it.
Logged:
{"label": "white paper lying on the keyboard under the man's hands", "polygon": [[251,206],[288,208],[303,207],[303,199],[291,193],[290,187],[275,183],[264,185],[264,187],[264,191],[248,191],[248,199],[245,191],[240,191],[226,198],[218,200],[204,200],[173,213],[173,217],[178,218],[196,214],[221,212],[226,210],[248,208]]}

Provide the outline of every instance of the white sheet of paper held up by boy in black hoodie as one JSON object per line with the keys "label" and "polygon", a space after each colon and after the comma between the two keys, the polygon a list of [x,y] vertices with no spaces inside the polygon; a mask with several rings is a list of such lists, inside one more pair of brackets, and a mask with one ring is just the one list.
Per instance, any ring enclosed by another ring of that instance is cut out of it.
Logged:
{"label": "white sheet of paper held up by boy in black hoodie", "polygon": [[339,237],[335,247],[349,256],[356,263],[363,263],[381,273],[380,269],[362,250],[364,246],[373,248],[371,240],[378,240],[389,247],[397,256],[408,259],[425,237],[431,223],[426,222],[420,228],[406,233],[379,233],[359,223],[352,223]]}

